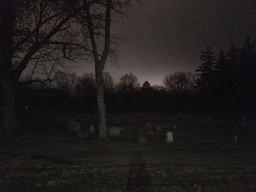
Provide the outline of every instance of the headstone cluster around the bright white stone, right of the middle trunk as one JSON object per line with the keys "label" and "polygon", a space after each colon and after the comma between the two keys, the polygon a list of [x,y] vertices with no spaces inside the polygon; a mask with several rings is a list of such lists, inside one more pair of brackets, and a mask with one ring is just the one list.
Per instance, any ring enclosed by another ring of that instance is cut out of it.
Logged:
{"label": "headstone cluster around the bright white stone, right of the middle trunk", "polygon": [[[166,126],[167,128],[167,126]],[[171,126],[172,131],[177,131],[176,126]],[[161,131],[161,126],[158,125],[155,127],[155,132]],[[147,136],[152,135],[152,128],[151,124],[147,123],[146,128],[142,125],[141,129],[139,129],[139,142],[140,143],[146,143],[147,142]],[[166,133],[166,142],[174,142],[173,140],[173,132],[167,132]]]}

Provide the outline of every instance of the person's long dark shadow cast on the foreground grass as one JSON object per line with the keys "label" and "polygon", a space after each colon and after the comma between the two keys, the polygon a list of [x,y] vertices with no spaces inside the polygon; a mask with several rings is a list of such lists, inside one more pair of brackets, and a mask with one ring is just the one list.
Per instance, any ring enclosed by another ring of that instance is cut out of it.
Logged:
{"label": "person's long dark shadow cast on the foreground grass", "polygon": [[127,192],[150,192],[151,181],[146,170],[146,160],[136,151],[130,161],[130,171],[126,186]]}

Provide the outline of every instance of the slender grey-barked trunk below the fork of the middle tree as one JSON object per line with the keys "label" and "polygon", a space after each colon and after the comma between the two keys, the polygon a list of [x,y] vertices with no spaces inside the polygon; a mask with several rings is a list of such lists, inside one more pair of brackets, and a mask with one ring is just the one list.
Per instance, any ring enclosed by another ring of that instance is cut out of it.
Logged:
{"label": "slender grey-barked trunk below the fork of the middle tree", "polygon": [[107,122],[106,122],[106,109],[104,101],[104,81],[102,79],[102,70],[95,70],[96,83],[97,83],[97,103],[99,112],[99,140],[107,139]]}

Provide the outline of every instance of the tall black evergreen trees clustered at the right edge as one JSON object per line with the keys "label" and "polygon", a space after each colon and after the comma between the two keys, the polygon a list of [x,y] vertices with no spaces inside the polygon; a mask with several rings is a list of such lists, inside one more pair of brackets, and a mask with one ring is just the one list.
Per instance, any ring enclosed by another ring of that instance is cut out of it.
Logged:
{"label": "tall black evergreen trees clustered at the right edge", "polygon": [[210,112],[253,113],[256,107],[256,42],[246,35],[243,45],[230,44],[216,56],[205,43],[195,81],[198,105]]}

